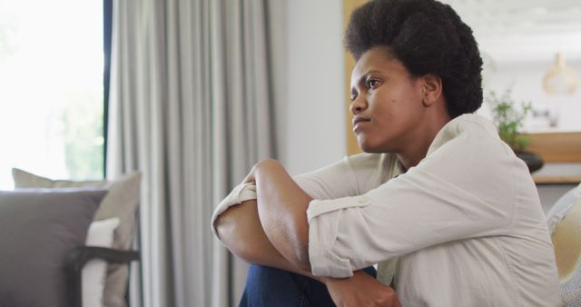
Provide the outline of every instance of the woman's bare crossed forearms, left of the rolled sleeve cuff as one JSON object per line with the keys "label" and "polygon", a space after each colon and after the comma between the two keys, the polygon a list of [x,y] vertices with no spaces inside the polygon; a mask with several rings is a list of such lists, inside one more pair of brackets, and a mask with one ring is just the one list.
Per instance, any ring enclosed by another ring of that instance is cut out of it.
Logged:
{"label": "woman's bare crossed forearms, left of the rolled sleeve cuff", "polygon": [[217,217],[222,243],[247,262],[310,275],[310,195],[276,160],[254,165],[243,183],[256,183],[258,202],[231,206]]}

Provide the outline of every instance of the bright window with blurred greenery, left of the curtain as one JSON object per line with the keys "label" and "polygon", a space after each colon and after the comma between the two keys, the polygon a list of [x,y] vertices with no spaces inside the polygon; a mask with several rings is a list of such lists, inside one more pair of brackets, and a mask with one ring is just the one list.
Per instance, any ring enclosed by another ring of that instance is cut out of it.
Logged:
{"label": "bright window with blurred greenery, left of the curtain", "polygon": [[103,178],[103,2],[0,0],[0,140],[0,189]]}

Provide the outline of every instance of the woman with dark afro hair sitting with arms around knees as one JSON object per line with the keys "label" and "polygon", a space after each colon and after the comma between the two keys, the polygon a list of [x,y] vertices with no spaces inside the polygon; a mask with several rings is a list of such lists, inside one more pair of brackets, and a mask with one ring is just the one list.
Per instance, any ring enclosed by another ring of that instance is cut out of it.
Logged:
{"label": "woman with dark afro hair sitting with arms around knees", "polygon": [[[473,114],[482,60],[468,25],[433,0],[370,1],[346,44],[366,153],[296,178],[257,163],[212,217],[257,264],[241,305],[555,306],[535,184]],[[376,263],[377,280],[359,271]]]}

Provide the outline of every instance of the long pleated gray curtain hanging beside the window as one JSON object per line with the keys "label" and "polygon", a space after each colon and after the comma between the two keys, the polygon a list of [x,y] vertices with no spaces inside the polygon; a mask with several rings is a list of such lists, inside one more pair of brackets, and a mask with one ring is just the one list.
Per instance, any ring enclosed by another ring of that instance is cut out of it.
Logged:
{"label": "long pleated gray curtain hanging beside the window", "polygon": [[[280,4],[279,4],[280,5]],[[266,0],[115,0],[108,175],[143,172],[132,306],[231,306],[213,207],[275,157]]]}

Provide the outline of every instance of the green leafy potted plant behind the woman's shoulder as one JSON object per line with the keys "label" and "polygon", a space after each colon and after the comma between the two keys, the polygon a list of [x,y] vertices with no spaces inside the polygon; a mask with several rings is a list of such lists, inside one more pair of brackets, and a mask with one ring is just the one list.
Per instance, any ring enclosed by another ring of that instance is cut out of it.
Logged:
{"label": "green leafy potted plant behind the woman's shoulder", "polygon": [[492,107],[493,122],[497,126],[500,139],[527,163],[530,173],[540,169],[543,166],[543,159],[537,153],[526,151],[530,138],[521,131],[527,114],[532,110],[531,104],[521,103],[517,106],[510,95],[510,90],[501,95],[490,91],[486,100]]}

